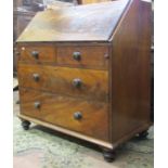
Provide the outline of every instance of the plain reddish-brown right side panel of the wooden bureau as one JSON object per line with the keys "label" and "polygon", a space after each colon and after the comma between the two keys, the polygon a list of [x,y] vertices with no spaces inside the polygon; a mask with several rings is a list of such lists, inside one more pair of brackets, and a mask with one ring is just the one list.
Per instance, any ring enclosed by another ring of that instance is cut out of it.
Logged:
{"label": "plain reddish-brown right side panel of the wooden bureau", "polygon": [[151,3],[132,1],[112,42],[112,141],[150,126]]}

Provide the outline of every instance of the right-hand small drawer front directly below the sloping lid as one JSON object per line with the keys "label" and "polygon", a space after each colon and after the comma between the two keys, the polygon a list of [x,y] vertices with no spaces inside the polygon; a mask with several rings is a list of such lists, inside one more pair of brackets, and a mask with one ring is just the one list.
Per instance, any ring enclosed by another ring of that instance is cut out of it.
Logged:
{"label": "right-hand small drawer front directly below the sloping lid", "polygon": [[107,47],[57,47],[57,64],[65,66],[107,69]]}

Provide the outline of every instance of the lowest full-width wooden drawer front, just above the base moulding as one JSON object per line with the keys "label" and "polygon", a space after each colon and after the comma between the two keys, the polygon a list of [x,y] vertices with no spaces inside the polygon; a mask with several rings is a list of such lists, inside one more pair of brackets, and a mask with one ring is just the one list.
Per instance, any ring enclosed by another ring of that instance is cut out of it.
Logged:
{"label": "lowest full-width wooden drawer front, just above the base moulding", "polygon": [[[35,105],[37,102],[38,107]],[[107,103],[21,89],[21,107],[22,114],[108,141]]]}

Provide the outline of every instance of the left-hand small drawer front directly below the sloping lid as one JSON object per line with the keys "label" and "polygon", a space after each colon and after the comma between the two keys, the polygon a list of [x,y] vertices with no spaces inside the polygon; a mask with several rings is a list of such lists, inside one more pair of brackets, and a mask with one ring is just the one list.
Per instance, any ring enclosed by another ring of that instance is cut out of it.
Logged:
{"label": "left-hand small drawer front directly below the sloping lid", "polygon": [[55,63],[56,52],[52,46],[23,46],[17,47],[20,52],[18,61],[31,62],[31,63]]}

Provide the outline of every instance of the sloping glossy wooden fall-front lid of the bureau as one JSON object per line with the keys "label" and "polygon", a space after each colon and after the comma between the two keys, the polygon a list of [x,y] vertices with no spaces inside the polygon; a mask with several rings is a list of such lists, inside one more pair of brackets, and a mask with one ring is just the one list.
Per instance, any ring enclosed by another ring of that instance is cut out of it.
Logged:
{"label": "sloping glossy wooden fall-front lid of the bureau", "polygon": [[39,12],[17,39],[35,41],[108,41],[130,0]]}

